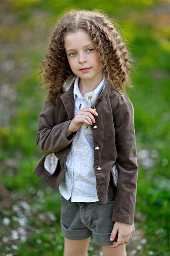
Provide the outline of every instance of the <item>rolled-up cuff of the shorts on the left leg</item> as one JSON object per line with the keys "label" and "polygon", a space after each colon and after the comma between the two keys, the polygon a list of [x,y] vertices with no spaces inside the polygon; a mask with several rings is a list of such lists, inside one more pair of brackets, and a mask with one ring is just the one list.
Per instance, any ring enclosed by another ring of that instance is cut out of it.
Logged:
{"label": "rolled-up cuff of the shorts on the left leg", "polygon": [[61,223],[61,230],[62,230],[63,236],[71,240],[82,240],[92,236],[92,232],[88,229],[69,230],[69,229],[66,229],[66,227],[62,223]]}

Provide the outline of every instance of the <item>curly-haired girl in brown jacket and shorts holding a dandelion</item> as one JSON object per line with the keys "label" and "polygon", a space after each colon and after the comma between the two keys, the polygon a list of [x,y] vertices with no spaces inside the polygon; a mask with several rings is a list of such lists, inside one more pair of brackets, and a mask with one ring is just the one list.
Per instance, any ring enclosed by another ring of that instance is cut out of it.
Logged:
{"label": "curly-haired girl in brown jacket and shorts holding a dandelion", "polygon": [[46,57],[36,139],[46,154],[33,172],[60,190],[64,256],[87,256],[91,236],[104,256],[125,256],[138,180],[127,49],[106,14],[72,9]]}

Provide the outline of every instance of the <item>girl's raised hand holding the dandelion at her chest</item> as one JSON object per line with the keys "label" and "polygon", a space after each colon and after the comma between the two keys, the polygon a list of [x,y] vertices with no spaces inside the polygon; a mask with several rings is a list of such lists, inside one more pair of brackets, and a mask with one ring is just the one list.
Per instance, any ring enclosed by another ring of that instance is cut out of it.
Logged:
{"label": "girl's raised hand holding the dandelion at her chest", "polygon": [[98,116],[98,113],[96,112],[95,108],[79,109],[79,111],[77,111],[74,118],[72,119],[72,122],[70,122],[69,124],[69,130],[75,132],[83,124],[92,125],[92,123],[95,123],[95,118],[92,114]]}

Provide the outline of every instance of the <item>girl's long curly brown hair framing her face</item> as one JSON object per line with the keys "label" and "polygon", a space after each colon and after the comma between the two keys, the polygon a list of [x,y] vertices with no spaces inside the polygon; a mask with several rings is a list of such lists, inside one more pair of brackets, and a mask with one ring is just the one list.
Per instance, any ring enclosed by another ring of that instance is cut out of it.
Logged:
{"label": "girl's long curly brown hair framing her face", "polygon": [[55,23],[49,36],[47,60],[41,61],[39,75],[43,72],[43,66],[43,77],[47,83],[42,87],[49,90],[46,99],[54,97],[55,93],[61,95],[61,86],[73,74],[63,45],[66,33],[76,32],[77,29],[88,32],[101,59],[103,73],[111,86],[121,93],[125,93],[126,87],[133,87],[130,78],[130,61],[133,60],[130,58],[130,51],[122,42],[115,19],[109,18],[98,9],[71,9],[62,14]]}

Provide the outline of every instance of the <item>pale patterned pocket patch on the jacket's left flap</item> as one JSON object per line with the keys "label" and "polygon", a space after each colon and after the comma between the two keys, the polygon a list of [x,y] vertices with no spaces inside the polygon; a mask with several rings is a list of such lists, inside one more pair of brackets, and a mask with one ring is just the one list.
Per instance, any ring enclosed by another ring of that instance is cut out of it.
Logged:
{"label": "pale patterned pocket patch on the jacket's left flap", "polygon": [[59,158],[56,156],[55,152],[48,154],[44,161],[44,170],[46,175],[53,175],[58,167]]}

